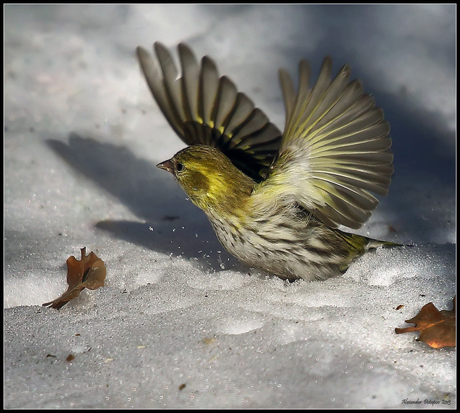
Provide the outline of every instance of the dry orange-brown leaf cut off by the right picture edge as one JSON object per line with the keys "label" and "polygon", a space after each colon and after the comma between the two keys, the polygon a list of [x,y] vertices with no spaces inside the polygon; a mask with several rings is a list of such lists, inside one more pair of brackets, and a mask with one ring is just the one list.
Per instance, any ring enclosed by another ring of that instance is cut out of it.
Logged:
{"label": "dry orange-brown leaf cut off by the right picture edge", "polygon": [[452,310],[438,310],[433,303],[428,303],[422,310],[406,323],[414,327],[395,328],[396,334],[420,331],[419,340],[433,348],[455,347],[455,297]]}

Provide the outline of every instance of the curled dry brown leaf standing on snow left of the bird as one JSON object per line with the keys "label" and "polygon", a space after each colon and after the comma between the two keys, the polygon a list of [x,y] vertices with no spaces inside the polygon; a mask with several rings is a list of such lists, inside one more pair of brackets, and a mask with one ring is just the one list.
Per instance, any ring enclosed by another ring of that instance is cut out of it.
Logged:
{"label": "curled dry brown leaf standing on snow left of the bird", "polygon": [[84,288],[96,290],[104,286],[106,268],[104,261],[93,251],[86,254],[86,247],[81,249],[82,259],[78,260],[74,256],[67,258],[67,291],[43,306],[52,307],[59,310],[65,306],[72,298],[78,297]]}

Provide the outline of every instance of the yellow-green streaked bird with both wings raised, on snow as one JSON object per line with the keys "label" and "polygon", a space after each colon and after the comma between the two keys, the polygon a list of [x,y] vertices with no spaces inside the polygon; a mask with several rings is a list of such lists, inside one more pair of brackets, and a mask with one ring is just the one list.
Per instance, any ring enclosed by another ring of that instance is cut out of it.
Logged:
{"label": "yellow-green streaked bird with both wings raised, on snow", "polygon": [[347,233],[386,196],[393,169],[390,126],[345,65],[332,79],[323,60],[316,82],[307,60],[298,87],[285,69],[281,132],[212,58],[198,63],[185,43],[180,69],[160,42],[136,49],[164,117],[188,146],[157,167],[174,175],[240,261],[295,281],[342,275],[364,253],[402,244]]}

